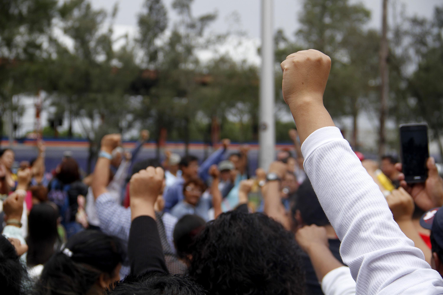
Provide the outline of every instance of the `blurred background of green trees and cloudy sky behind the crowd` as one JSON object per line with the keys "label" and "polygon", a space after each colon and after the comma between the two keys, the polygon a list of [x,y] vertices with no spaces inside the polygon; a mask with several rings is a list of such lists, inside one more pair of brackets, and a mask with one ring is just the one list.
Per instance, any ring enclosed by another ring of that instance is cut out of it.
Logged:
{"label": "blurred background of green trees and cloudy sky behind the crowd", "polygon": [[[280,146],[295,127],[280,62],[315,48],[332,58],[325,104],[355,150],[397,155],[398,124],[427,122],[431,154],[442,159],[440,0],[273,6]],[[131,146],[150,130],[150,156],[170,147],[205,157],[221,138],[256,147],[260,9],[259,0],[1,1],[2,145],[31,158],[43,134],[47,161],[70,149],[85,170],[109,132]]]}

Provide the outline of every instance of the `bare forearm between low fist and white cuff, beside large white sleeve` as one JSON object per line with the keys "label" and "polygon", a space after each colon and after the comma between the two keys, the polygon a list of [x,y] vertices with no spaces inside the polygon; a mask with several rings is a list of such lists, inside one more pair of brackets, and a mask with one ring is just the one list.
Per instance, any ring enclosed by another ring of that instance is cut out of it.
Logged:
{"label": "bare forearm between low fist and white cuff, beside large white sleeve", "polygon": [[319,282],[323,280],[323,277],[326,276],[328,272],[343,266],[343,264],[334,257],[326,245],[311,245],[307,250],[307,254],[311,259],[311,264],[314,267],[315,275]]}

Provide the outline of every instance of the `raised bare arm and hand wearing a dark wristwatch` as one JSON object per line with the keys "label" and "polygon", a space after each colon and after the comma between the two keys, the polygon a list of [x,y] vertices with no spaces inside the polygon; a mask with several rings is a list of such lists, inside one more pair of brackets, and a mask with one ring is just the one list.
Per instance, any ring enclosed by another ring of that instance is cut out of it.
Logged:
{"label": "raised bare arm and hand wearing a dark wristwatch", "polygon": [[[269,173],[276,173],[280,180],[283,179],[286,170],[287,165],[280,161],[272,162],[269,167]],[[281,203],[280,181],[274,180],[265,184],[262,188],[262,195],[264,199],[264,214],[280,222],[287,230],[290,230],[291,225]]]}

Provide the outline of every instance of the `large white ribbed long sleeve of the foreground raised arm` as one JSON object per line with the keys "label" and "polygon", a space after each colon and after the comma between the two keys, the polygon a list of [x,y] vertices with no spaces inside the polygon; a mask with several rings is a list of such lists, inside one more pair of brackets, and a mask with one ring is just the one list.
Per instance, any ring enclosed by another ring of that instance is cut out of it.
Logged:
{"label": "large white ribbed long sleeve of the foreground raised arm", "polygon": [[303,142],[304,168],[342,241],[356,294],[443,294],[443,279],[392,218],[386,200],[336,127]]}

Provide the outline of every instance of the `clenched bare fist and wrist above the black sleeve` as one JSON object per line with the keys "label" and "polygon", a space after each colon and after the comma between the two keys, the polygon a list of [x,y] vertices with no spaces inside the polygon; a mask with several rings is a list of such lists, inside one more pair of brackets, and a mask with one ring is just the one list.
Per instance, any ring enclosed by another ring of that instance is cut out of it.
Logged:
{"label": "clenched bare fist and wrist above the black sleeve", "polygon": [[155,200],[163,189],[164,171],[149,166],[134,174],[129,182],[129,195],[132,200],[148,202],[154,206]]}

